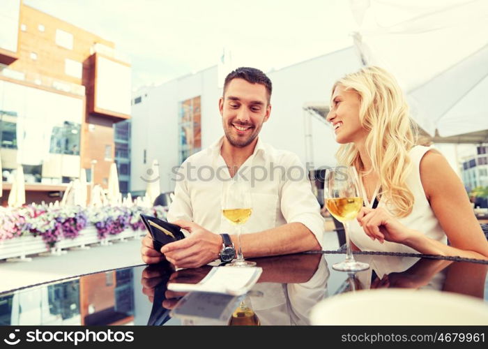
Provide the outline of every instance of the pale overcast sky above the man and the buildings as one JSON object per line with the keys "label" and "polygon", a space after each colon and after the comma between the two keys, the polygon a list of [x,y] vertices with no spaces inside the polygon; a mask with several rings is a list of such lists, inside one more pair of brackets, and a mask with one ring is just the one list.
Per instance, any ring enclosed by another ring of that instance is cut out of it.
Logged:
{"label": "pale overcast sky above the man and the buildings", "polygon": [[132,60],[132,89],[218,63],[269,71],[352,45],[346,0],[24,0],[114,41]]}

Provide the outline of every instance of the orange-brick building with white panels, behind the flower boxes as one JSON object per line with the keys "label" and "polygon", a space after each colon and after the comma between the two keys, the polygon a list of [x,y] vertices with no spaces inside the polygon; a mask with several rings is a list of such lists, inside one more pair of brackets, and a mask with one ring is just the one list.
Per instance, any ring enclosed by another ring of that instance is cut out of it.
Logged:
{"label": "orange-brick building with white panels, behind the flower boxes", "polygon": [[2,1],[0,24],[3,205],[20,165],[28,203],[59,200],[80,169],[106,187],[114,124],[130,118],[130,61],[22,0]]}

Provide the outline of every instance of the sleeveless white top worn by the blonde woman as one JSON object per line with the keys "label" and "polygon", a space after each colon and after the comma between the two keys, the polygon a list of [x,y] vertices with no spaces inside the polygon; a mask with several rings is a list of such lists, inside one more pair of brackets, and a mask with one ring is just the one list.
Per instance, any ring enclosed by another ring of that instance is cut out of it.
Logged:
{"label": "sleeveless white top worn by the blonde woman", "polygon": [[[439,220],[436,218],[434,211],[432,211],[432,208],[429,205],[429,201],[427,201],[427,198],[425,197],[425,191],[422,186],[422,181],[420,181],[420,160],[425,155],[425,153],[429,151],[429,149],[432,149],[432,147],[423,147],[417,145],[413,147],[409,152],[411,166],[409,174],[406,177],[406,186],[408,186],[413,193],[413,207],[411,214],[403,218],[398,218],[398,221],[408,228],[422,232],[424,235],[430,237],[431,239],[442,242],[443,244],[447,244],[448,239],[445,235],[444,230],[441,228]],[[360,183],[360,185],[362,186],[363,183]],[[366,198],[365,190],[363,188],[363,200],[366,207],[372,208],[376,193],[375,195],[373,195],[372,202],[369,202],[369,200],[367,200]],[[378,207],[383,207],[383,209],[386,209],[387,211],[390,211],[390,213],[392,213],[392,211],[388,209],[384,200],[379,200]],[[418,251],[415,251],[413,248],[410,248],[409,246],[405,246],[403,244],[397,244],[395,242],[387,241],[381,244],[380,242],[378,242],[378,240],[373,241],[366,235],[363,227],[359,225],[356,219],[350,222],[349,227],[351,242],[358,246],[361,251],[418,253]]]}

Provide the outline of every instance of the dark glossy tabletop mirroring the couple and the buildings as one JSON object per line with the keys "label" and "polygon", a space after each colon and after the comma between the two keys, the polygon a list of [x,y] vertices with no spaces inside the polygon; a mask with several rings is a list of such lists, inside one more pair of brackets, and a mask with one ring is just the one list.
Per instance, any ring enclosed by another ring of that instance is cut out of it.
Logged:
{"label": "dark glossy tabletop mirroring the couple and the buildings", "polygon": [[348,275],[329,268],[343,258],[311,253],[254,259],[263,273],[245,297],[167,290],[169,281],[198,283],[210,266],[175,271],[161,263],[89,274],[1,293],[0,325],[234,325],[232,314],[242,301],[260,325],[310,325],[310,311],[322,299],[385,288],[487,300],[487,262],[356,255],[370,269]]}

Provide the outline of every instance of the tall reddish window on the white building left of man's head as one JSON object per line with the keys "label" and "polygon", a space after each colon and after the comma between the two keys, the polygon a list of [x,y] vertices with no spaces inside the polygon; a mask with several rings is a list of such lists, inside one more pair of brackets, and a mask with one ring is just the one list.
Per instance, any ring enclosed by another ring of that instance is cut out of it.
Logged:
{"label": "tall reddish window on the white building left of man's head", "polygon": [[180,103],[178,118],[180,163],[201,150],[200,105],[200,96]]}

